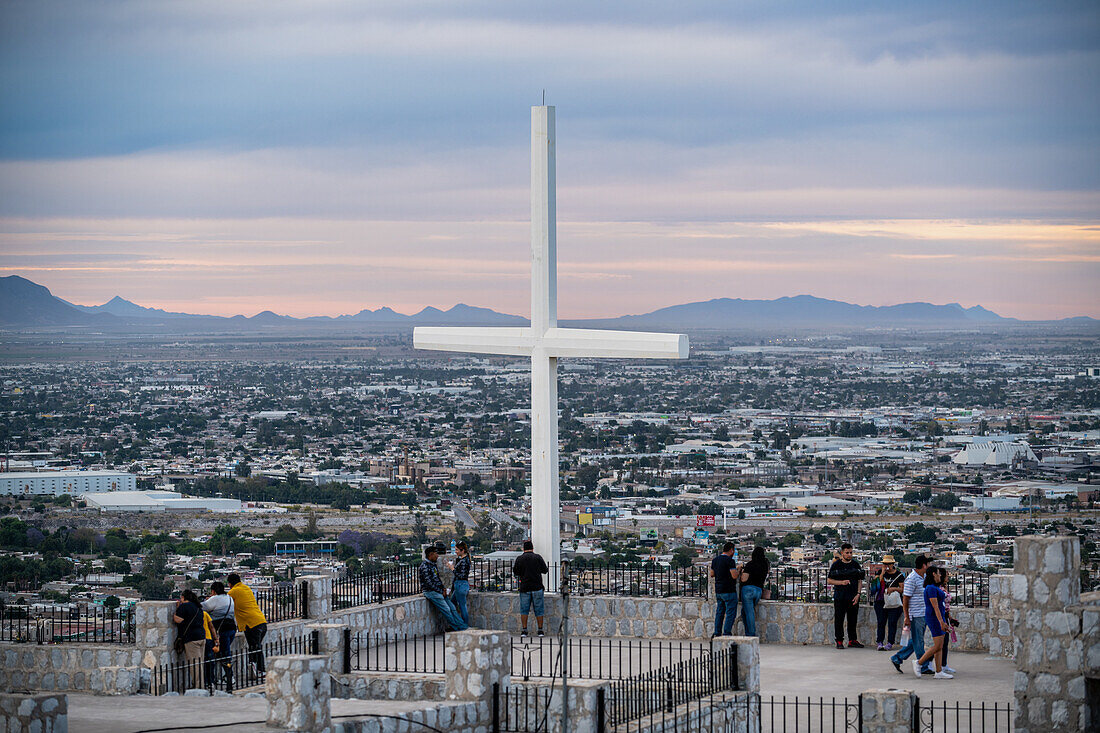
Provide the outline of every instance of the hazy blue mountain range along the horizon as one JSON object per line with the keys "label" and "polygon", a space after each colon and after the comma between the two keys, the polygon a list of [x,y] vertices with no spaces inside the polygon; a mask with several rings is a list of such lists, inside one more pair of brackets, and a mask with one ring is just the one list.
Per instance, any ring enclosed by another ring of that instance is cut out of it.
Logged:
{"label": "hazy blue mountain range along the horizon", "polygon": [[[0,328],[58,329],[95,328],[110,331],[180,332],[242,330],[308,330],[333,328],[408,326],[522,326],[521,316],[497,313],[459,304],[448,310],[427,307],[405,315],[388,307],[363,309],[344,316],[294,318],[264,310],[254,316],[209,316],[147,308],[120,296],[102,305],[85,306],[64,300],[46,287],[19,275],[0,277]],[[1093,327],[1100,320],[1089,317],[1058,321],[1021,321],[1004,318],[981,306],[964,308],[957,303],[903,303],[892,306],[861,306],[812,295],[772,300],[714,298],[669,306],[651,313],[588,320],[562,321],[570,326],[603,328],[672,328],[679,330],[750,330],[756,327],[944,327],[1008,326],[1013,324],[1062,324]]]}

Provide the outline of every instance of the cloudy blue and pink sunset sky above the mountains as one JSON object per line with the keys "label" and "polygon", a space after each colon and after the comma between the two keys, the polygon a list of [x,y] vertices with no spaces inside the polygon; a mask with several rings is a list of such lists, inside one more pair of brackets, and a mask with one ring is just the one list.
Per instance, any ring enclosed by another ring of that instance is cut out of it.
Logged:
{"label": "cloudy blue and pink sunset sky above the mountains", "polygon": [[0,274],[217,315],[1100,317],[1100,4],[0,0]]}

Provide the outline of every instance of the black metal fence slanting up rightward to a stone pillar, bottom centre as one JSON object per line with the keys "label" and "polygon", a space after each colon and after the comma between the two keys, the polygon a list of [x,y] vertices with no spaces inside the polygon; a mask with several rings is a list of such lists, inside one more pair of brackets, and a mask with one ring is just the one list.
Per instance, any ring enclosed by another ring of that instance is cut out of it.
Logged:
{"label": "black metal fence slanting up rightward to a stone pillar, bottom centre", "polygon": [[612,682],[607,692],[606,720],[610,726],[671,713],[676,708],[711,694],[736,690],[737,647],[669,665]]}

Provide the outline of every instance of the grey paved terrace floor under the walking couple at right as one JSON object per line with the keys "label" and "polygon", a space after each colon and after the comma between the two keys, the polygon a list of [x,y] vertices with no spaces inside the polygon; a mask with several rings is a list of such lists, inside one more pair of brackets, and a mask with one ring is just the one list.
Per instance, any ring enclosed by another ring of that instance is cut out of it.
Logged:
{"label": "grey paved terrace floor under the walking couple at right", "polygon": [[950,652],[947,661],[958,670],[955,679],[917,679],[908,659],[902,669],[909,674],[899,675],[890,653],[875,648],[761,644],[760,691],[765,697],[854,698],[864,690],[897,688],[913,690],[922,701],[1012,702],[1015,663],[963,652]]}

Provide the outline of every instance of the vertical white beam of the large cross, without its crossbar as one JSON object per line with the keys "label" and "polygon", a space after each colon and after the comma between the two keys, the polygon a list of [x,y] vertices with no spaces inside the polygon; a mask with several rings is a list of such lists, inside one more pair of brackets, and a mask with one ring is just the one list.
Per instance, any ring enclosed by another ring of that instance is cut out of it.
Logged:
{"label": "vertical white beam of the large cross, without its crossbar", "polygon": [[[531,333],[558,326],[558,204],[553,107],[531,108]],[[558,590],[558,359],[531,352],[531,541],[550,565]]]}

